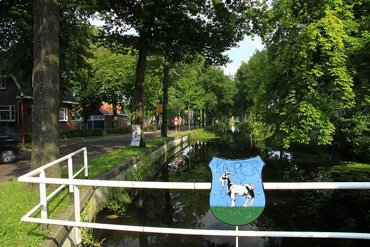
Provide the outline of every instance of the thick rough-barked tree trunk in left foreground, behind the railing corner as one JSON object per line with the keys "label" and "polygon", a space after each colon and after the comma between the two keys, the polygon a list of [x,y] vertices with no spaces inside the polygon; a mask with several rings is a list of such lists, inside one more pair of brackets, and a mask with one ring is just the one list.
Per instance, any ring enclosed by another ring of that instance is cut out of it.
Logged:
{"label": "thick rough-barked tree trunk in left foreground, behind the railing corner", "polygon": [[[34,0],[33,121],[31,170],[59,158],[59,6]],[[59,165],[46,177],[60,178]]]}

